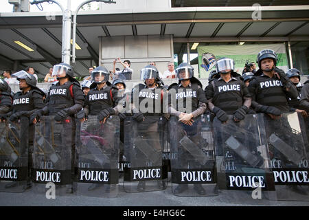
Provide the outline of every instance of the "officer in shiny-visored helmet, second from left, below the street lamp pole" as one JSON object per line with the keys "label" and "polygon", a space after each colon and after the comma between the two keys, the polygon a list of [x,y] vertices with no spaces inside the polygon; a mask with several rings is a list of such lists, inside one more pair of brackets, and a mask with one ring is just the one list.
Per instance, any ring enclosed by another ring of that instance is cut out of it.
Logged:
{"label": "officer in shiny-visored helmet, second from left, below the street lamp pole", "polygon": [[[75,136],[76,122],[75,114],[82,109],[84,104],[84,94],[80,89],[80,83],[73,78],[74,72],[67,63],[59,63],[54,65],[52,76],[56,76],[58,83],[52,85],[49,89],[49,94],[46,99],[46,105],[43,109],[35,111],[30,120],[34,123],[41,115],[54,115],[56,121],[71,118],[71,137],[66,137],[71,140],[71,175],[74,177],[75,167]],[[68,188],[68,192],[73,192],[73,188]]]}

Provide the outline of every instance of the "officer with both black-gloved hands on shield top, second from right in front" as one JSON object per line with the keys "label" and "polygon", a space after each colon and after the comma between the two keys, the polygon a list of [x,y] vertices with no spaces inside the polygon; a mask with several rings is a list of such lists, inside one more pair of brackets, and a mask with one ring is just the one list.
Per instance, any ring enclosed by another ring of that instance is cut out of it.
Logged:
{"label": "officer with both black-gloved hands on shield top, second from right in front", "polygon": [[251,105],[249,90],[233,69],[234,61],[231,58],[220,58],[216,62],[220,78],[205,88],[208,107],[221,122],[228,120],[228,114],[233,114],[235,122],[243,120]]}

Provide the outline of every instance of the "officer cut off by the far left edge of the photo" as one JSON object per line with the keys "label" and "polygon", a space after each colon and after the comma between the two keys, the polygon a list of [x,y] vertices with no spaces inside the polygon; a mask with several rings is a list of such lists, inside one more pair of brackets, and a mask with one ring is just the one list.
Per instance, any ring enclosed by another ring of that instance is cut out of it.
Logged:
{"label": "officer cut off by the far left edge of the photo", "polygon": [[0,122],[6,120],[12,109],[12,95],[10,86],[0,79]]}

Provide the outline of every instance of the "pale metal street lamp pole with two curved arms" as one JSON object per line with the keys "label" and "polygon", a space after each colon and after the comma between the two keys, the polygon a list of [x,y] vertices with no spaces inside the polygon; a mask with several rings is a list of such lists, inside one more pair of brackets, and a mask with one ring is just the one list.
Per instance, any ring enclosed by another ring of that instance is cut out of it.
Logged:
{"label": "pale metal street lamp pole with two curved arms", "polygon": [[[75,45],[76,45],[76,17],[78,10],[82,8],[82,5],[90,3],[91,1],[101,1],[104,3],[116,3],[113,0],[88,0],[81,3],[73,17],[73,48],[72,48],[72,62],[75,63]],[[71,23],[72,23],[72,12],[71,12],[71,0],[67,0],[67,10],[65,10],[60,3],[56,0],[34,0],[31,2],[32,5],[44,2],[54,2],[56,3],[62,11],[62,63],[67,63],[70,65],[71,59]]]}

